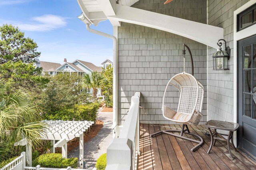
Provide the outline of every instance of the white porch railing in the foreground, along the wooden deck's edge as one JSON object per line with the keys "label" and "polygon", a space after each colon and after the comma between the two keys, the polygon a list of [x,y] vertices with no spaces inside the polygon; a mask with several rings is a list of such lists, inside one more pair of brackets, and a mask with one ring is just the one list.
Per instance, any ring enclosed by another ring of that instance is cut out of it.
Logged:
{"label": "white porch railing in the foreground, along the wooden deck's edge", "polygon": [[107,149],[106,170],[136,170],[137,155],[140,154],[140,92],[132,96],[128,115],[119,138],[114,138]]}

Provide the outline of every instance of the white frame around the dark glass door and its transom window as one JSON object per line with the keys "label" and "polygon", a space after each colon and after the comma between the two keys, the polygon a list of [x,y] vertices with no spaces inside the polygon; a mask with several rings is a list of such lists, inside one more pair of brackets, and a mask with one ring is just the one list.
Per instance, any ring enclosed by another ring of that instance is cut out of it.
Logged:
{"label": "white frame around the dark glass door and its transom window", "polygon": [[[256,4],[256,0],[250,0],[234,11],[234,123],[237,122],[237,41],[256,35],[256,24],[237,32],[237,15]],[[237,146],[237,133],[234,133],[234,144]]]}

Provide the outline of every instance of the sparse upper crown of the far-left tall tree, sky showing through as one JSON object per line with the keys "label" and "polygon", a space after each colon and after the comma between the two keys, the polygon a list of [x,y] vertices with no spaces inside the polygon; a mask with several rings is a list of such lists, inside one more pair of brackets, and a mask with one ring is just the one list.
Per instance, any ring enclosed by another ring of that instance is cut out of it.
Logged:
{"label": "sparse upper crown of the far-left tall tree, sky showing through", "polygon": [[[4,24],[0,27],[0,64],[8,61],[32,63],[40,56],[37,43],[31,38],[25,38],[24,32],[18,27]],[[29,55],[25,55],[29,53]]]}

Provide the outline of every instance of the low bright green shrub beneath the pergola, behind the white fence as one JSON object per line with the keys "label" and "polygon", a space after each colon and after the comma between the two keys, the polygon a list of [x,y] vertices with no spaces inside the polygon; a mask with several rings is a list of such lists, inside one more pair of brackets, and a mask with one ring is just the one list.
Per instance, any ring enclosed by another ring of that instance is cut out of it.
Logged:
{"label": "low bright green shrub beneath the pergola, behind the white fence", "polygon": [[67,168],[77,164],[78,158],[62,158],[60,153],[42,154],[32,162],[32,166],[40,165],[45,168]]}

